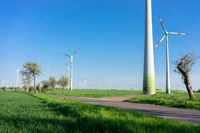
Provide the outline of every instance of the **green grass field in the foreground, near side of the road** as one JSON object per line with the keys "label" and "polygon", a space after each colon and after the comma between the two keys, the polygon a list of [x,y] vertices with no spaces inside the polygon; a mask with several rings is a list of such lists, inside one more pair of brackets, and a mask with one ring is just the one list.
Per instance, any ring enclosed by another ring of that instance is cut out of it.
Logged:
{"label": "green grass field in the foreground, near side of the road", "polygon": [[140,113],[66,101],[44,94],[0,92],[2,133],[198,133],[200,126]]}

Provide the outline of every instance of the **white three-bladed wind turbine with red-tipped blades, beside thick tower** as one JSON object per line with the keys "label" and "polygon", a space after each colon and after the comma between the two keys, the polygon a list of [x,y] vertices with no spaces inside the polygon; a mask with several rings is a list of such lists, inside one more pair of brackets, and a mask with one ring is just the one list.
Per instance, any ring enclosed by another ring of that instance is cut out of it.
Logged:
{"label": "white three-bladed wind turbine with red-tipped blades, beside thick tower", "polygon": [[164,39],[166,39],[166,93],[171,94],[170,64],[169,64],[169,35],[186,35],[186,33],[168,32],[161,18],[160,18],[160,24],[164,31],[164,36],[157,42],[156,47],[159,46],[164,41]]}

